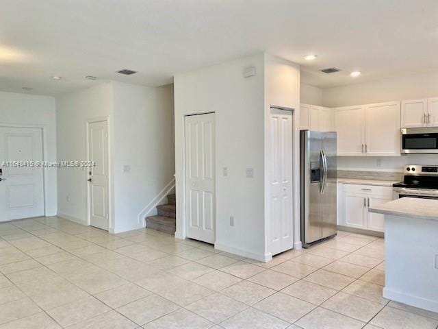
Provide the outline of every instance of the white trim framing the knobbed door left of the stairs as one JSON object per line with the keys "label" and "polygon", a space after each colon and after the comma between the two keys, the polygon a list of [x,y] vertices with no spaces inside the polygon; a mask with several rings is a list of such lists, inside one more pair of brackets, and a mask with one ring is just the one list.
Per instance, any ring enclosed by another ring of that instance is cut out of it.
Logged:
{"label": "white trim framing the knobbed door left of the stairs", "polygon": [[[90,136],[88,136],[88,128],[90,126],[90,123],[95,122],[106,122],[107,123],[107,151],[108,151],[108,178],[107,178],[107,188],[108,188],[108,231],[112,232],[114,231],[114,226],[112,225],[112,188],[111,188],[111,178],[112,178],[112,152],[111,152],[111,145],[110,145],[110,117],[95,117],[92,119],[86,119],[86,154],[87,154],[87,161],[90,161]],[[87,171],[84,171],[86,173],[87,178]],[[90,184],[87,184],[87,221],[86,225],[90,226]]]}

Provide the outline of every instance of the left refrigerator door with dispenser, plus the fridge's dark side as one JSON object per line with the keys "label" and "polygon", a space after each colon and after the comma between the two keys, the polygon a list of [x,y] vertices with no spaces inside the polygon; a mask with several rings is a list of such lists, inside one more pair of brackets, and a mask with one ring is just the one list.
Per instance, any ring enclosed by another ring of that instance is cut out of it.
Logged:
{"label": "left refrigerator door with dispenser, plus the fridge's dark side", "polygon": [[300,133],[301,239],[307,245],[322,238],[322,132]]}

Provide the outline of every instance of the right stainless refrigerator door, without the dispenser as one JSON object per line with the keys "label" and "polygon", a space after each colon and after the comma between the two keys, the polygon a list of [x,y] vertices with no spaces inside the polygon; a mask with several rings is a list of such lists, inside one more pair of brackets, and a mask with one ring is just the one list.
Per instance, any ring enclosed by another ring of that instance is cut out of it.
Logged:
{"label": "right stainless refrigerator door, without the dispenser", "polygon": [[326,156],[326,180],[322,193],[322,238],[336,234],[336,133],[322,133],[322,149]]}

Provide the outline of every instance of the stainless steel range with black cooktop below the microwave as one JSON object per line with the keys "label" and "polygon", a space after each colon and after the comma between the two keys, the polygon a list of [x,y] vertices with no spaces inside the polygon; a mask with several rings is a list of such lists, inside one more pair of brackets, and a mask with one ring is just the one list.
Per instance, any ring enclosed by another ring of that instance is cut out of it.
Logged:
{"label": "stainless steel range with black cooktop below the microwave", "polygon": [[404,167],[403,182],[393,186],[394,199],[400,197],[438,199],[438,165],[408,164]]}

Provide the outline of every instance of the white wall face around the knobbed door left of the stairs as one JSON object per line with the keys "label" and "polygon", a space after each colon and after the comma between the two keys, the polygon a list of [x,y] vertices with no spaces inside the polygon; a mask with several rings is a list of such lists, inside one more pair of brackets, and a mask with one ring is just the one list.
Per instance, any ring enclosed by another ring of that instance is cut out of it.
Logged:
{"label": "white wall face around the knobbed door left of the stairs", "polygon": [[[112,84],[105,83],[56,98],[57,156],[59,160],[87,160],[86,121],[109,117],[113,121]],[[110,140],[113,131],[109,130]],[[114,137],[114,136],[113,136]],[[112,149],[114,141],[110,141]],[[110,170],[112,160],[110,159]],[[86,223],[87,171],[85,168],[62,168],[57,173],[58,215]],[[113,186],[110,176],[110,186]],[[110,187],[110,189],[112,189]],[[114,195],[114,191],[110,193]],[[68,200],[69,199],[69,200]],[[110,204],[113,204],[111,197]],[[114,208],[110,210],[114,219]],[[114,227],[114,223],[112,223]]]}

